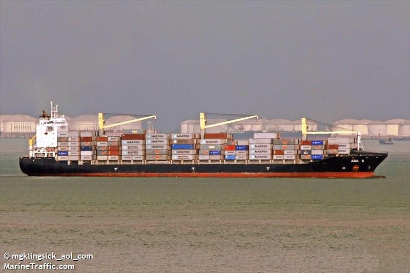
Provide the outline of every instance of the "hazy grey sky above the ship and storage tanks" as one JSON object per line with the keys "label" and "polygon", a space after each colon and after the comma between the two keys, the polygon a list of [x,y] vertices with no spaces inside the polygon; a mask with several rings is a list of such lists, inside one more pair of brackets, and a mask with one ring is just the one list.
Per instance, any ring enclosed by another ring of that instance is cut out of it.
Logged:
{"label": "hazy grey sky above the ship and storage tanks", "polygon": [[408,119],[409,3],[1,1],[0,113]]}

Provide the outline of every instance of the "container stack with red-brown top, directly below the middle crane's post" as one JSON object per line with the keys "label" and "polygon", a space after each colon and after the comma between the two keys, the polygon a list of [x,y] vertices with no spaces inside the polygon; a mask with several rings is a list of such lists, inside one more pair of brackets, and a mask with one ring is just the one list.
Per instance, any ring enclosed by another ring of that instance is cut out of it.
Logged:
{"label": "container stack with red-brown top, directly below the middle crane's post", "polygon": [[232,134],[205,134],[204,139],[200,140],[199,160],[223,160],[225,156],[226,144],[229,140],[232,140]]}

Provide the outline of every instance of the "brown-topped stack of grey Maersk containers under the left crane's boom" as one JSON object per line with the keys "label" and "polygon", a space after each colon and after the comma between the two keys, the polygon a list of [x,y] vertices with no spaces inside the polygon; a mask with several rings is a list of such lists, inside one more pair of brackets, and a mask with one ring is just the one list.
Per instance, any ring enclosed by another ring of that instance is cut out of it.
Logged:
{"label": "brown-topped stack of grey Maersk containers under the left crane's boom", "polygon": [[146,159],[145,134],[124,134],[121,136],[121,160],[142,161]]}

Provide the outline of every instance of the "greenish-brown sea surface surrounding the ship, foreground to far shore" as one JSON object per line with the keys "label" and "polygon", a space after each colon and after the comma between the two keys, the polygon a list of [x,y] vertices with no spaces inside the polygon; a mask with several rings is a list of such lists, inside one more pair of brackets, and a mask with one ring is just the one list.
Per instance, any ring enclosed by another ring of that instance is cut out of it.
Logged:
{"label": "greenish-brown sea surface surrounding the ship, foreground to far shore", "polygon": [[1,139],[0,250],[92,251],[81,272],[408,272],[410,142],[363,145],[386,178],[27,177],[27,140]]}

